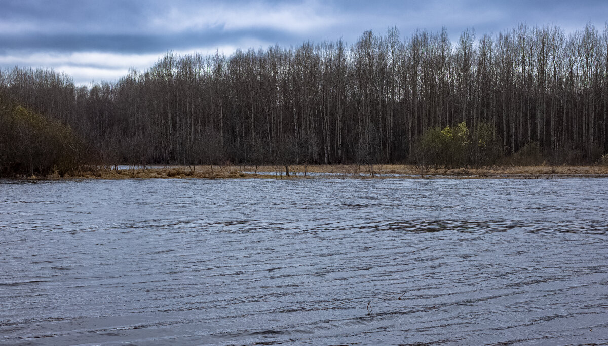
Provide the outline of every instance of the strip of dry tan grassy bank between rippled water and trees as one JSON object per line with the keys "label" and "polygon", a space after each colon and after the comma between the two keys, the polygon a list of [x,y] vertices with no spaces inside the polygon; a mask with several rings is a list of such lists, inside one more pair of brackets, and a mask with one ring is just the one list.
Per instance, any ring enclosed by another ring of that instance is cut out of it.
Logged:
{"label": "strip of dry tan grassy bank between rippled water and trees", "polygon": [[421,171],[413,165],[375,165],[373,174],[369,166],[363,165],[294,165],[289,167],[264,166],[122,166],[119,170],[83,171],[82,174],[60,176],[57,173],[45,177],[29,179],[311,179],[311,178],[353,178],[353,179],[390,179],[390,178],[608,178],[606,166],[509,166],[487,168],[427,169]]}

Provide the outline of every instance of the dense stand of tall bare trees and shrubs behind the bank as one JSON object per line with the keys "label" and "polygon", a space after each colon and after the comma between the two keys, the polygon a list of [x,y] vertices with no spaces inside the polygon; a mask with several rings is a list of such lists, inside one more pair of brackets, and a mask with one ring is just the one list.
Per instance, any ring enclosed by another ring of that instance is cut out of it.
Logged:
{"label": "dense stand of tall bare trees and shrubs behind the bank", "polygon": [[[81,165],[421,162],[593,164],[608,150],[608,24],[497,35],[396,27],[225,56],[168,52],[76,86],[0,72],[0,171]],[[523,154],[522,154],[523,153]],[[517,156],[519,155],[519,156]]]}

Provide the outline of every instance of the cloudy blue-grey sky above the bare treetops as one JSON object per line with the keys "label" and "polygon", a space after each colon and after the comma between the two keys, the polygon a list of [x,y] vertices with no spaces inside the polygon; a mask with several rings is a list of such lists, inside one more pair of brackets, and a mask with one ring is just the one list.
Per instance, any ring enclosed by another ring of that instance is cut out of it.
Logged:
{"label": "cloudy blue-grey sky above the bare treetops", "polygon": [[559,24],[565,32],[593,22],[600,32],[608,0],[450,1],[194,1],[2,0],[0,67],[49,67],[78,84],[117,80],[145,70],[164,52],[230,54],[235,48],[289,46],[306,40],[353,43],[364,32],[402,36],[445,26],[457,40],[529,25]]}

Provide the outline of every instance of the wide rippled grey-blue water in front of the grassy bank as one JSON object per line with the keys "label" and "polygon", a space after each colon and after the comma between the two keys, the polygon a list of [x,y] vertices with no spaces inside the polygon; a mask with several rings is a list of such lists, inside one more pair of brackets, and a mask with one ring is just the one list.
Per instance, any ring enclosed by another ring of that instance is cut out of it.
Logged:
{"label": "wide rippled grey-blue water in front of the grassy bank", "polygon": [[0,181],[0,344],[606,343],[607,195],[608,179]]}

